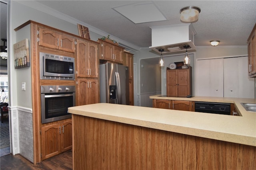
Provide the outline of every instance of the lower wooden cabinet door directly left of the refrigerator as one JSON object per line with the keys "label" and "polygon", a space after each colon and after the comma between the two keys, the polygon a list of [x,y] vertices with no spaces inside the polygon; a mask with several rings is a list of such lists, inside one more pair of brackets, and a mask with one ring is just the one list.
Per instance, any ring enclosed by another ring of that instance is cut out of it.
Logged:
{"label": "lower wooden cabinet door directly left of the refrigerator", "polygon": [[98,79],[90,78],[88,79],[88,92],[87,92],[88,99],[86,104],[95,104],[99,103],[99,82]]}

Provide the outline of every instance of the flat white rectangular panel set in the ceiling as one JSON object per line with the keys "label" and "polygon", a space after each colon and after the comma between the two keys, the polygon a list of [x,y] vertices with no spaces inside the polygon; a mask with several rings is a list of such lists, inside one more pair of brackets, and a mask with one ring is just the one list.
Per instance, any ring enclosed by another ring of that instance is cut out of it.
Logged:
{"label": "flat white rectangular panel set in the ceiling", "polygon": [[134,23],[165,21],[165,16],[153,2],[140,2],[112,8]]}

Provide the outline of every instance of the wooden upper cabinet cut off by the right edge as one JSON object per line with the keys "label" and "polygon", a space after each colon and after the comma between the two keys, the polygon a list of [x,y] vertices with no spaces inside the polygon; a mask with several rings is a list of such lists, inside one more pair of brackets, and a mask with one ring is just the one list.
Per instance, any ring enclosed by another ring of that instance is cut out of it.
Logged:
{"label": "wooden upper cabinet cut off by the right edge", "polygon": [[247,40],[248,43],[248,61],[249,61],[249,76],[256,77],[256,24]]}

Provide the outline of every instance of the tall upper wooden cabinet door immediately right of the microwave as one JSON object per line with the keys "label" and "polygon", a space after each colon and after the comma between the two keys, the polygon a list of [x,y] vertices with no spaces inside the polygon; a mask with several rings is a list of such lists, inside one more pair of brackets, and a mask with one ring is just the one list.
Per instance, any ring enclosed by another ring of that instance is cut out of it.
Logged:
{"label": "tall upper wooden cabinet door immediately right of the microwave", "polygon": [[87,77],[88,76],[88,67],[87,67],[87,55],[88,54],[88,43],[86,41],[81,41],[77,39],[76,45],[76,70],[78,77]]}

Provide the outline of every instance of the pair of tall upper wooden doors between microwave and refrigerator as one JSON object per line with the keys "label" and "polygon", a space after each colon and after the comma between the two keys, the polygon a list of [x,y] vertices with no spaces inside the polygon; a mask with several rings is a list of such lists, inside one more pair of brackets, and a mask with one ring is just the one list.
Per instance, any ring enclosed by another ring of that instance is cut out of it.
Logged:
{"label": "pair of tall upper wooden doors between microwave and refrigerator", "polygon": [[77,77],[98,77],[98,43],[77,39],[76,58]]}

